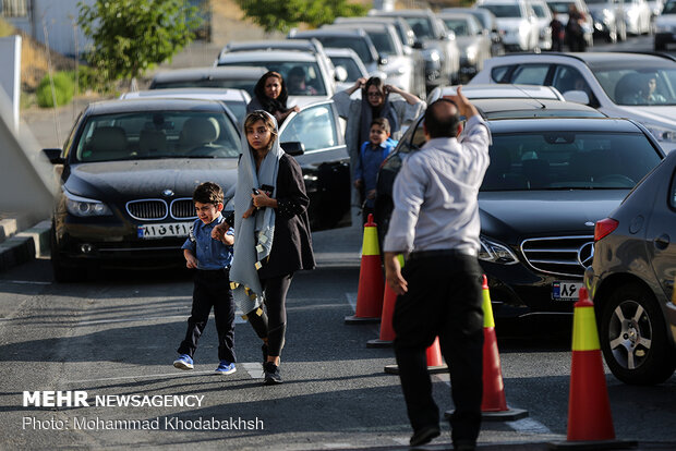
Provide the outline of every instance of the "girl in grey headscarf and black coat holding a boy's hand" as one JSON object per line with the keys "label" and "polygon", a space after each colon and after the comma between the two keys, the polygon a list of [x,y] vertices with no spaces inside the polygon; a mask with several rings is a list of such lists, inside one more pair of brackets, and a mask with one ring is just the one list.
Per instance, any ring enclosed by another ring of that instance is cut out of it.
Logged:
{"label": "girl in grey headscarf and black coat holding a boy's hand", "polygon": [[[232,295],[263,340],[264,383],[281,383],[279,363],[287,329],[286,297],[293,273],[315,266],[301,168],[279,146],[277,121],[265,111],[244,120],[238,166]],[[216,239],[227,231],[217,227]],[[265,308],[263,308],[265,307]]]}

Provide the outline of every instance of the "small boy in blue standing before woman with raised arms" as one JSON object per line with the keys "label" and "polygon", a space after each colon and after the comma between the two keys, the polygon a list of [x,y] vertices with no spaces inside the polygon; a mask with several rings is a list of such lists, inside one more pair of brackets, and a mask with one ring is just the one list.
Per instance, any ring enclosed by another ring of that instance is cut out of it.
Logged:
{"label": "small boy in blue standing before woman with raised arms", "polygon": [[375,210],[375,188],[378,170],[385,158],[397,146],[397,142],[389,137],[389,121],[376,118],[371,122],[369,141],[361,146],[357,168],[354,168],[354,187],[363,193],[365,198],[362,205],[364,218]]}

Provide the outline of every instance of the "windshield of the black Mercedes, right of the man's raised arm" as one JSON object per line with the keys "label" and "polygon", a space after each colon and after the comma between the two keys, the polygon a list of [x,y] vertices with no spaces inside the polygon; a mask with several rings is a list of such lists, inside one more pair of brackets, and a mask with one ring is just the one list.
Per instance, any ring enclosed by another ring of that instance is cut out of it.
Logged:
{"label": "windshield of the black Mercedes, right of the man's raised arm", "polygon": [[612,132],[493,134],[481,191],[630,190],[661,160],[644,135]]}

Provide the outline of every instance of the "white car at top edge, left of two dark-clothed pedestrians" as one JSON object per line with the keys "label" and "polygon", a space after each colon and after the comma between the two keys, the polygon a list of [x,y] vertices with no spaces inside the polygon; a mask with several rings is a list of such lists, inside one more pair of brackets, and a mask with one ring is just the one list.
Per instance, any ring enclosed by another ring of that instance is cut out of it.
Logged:
{"label": "white car at top edge, left of two dark-clothed pedestrians", "polygon": [[476,7],[495,14],[505,48],[511,51],[539,51],[538,17],[526,0],[479,0]]}

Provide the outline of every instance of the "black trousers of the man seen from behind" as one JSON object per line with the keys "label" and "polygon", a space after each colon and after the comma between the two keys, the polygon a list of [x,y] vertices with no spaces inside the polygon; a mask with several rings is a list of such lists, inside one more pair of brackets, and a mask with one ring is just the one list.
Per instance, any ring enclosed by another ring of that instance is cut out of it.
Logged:
{"label": "black trousers of the man seen from behind", "polygon": [[395,354],[413,431],[438,426],[425,351],[438,336],[450,374],[455,413],[451,437],[476,440],[481,427],[483,310],[482,270],[476,257],[410,258],[408,292],[397,297]]}

